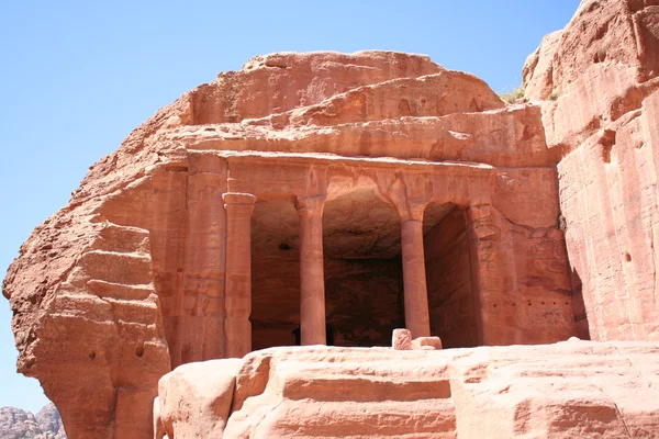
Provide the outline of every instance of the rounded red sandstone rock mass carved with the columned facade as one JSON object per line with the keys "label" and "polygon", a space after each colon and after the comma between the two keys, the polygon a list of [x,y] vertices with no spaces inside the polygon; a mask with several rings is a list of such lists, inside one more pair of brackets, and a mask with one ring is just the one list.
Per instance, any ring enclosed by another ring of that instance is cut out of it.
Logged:
{"label": "rounded red sandstone rock mass carved with the columned facade", "polygon": [[297,342],[309,200],[324,207],[332,344],[389,346],[414,306],[414,337],[448,348],[567,339],[540,120],[420,55],[283,53],[221,74],[134,131],[22,246],[3,283],[18,368],[70,437],[150,436],[171,367]]}

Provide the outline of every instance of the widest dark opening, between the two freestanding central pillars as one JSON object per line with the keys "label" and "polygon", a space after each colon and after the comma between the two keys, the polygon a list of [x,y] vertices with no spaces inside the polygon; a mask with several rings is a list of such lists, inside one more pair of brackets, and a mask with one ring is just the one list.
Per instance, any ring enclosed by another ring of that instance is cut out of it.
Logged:
{"label": "widest dark opening, between the two freestanding central pillars", "polygon": [[391,205],[357,190],[325,203],[325,311],[334,345],[391,346],[404,327],[401,225]]}

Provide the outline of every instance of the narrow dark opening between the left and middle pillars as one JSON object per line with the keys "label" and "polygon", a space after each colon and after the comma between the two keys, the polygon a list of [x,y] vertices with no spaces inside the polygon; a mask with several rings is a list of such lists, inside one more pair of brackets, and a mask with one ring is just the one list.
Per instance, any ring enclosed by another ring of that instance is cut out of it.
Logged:
{"label": "narrow dark opening between the left and middle pillars", "polygon": [[252,350],[294,346],[300,325],[300,219],[292,198],[252,214]]}

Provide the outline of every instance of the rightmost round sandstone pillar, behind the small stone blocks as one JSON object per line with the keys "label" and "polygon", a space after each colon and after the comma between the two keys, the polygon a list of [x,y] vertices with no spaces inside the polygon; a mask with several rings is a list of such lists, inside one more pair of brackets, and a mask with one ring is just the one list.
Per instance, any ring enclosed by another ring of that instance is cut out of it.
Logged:
{"label": "rightmost round sandstone pillar, behind the small stone blocks", "polygon": [[423,209],[417,209],[417,214],[401,218],[405,327],[412,333],[412,338],[431,335],[423,252]]}

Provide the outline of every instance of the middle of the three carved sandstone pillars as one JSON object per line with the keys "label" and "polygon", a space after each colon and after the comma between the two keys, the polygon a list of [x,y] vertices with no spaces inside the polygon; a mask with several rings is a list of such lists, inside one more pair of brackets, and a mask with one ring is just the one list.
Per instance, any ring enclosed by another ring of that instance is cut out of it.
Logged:
{"label": "middle of the three carved sandstone pillars", "polygon": [[298,199],[300,215],[300,335],[302,346],[326,345],[323,207],[325,195]]}

